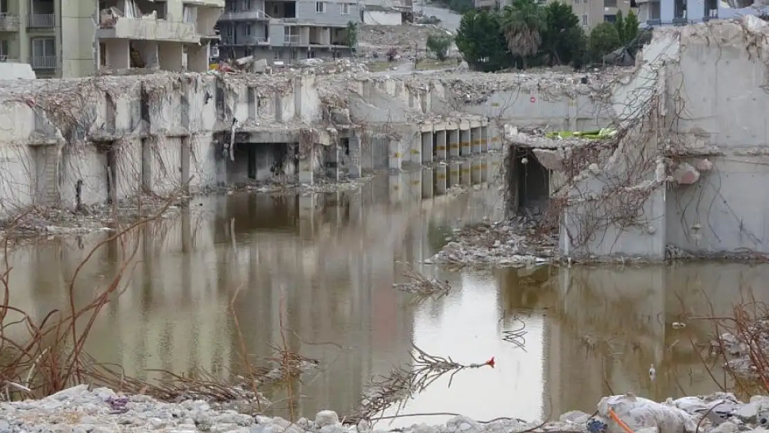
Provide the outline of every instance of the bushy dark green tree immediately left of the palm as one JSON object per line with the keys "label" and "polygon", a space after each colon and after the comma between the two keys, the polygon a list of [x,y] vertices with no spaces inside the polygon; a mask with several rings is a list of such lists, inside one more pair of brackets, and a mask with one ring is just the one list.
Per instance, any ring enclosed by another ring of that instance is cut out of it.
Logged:
{"label": "bushy dark green tree immediately left of the palm", "polygon": [[500,17],[493,12],[472,10],[462,15],[454,43],[476,71],[498,71],[506,68],[511,60]]}

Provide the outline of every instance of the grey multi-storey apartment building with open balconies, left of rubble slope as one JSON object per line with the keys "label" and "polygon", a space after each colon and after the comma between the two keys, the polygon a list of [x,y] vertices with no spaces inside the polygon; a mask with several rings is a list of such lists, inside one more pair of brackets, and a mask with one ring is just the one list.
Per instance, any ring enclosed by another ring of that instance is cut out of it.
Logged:
{"label": "grey multi-storey apartment building with open balconies, left of rubble slope", "polygon": [[358,0],[227,0],[218,22],[221,58],[254,55],[268,62],[351,54],[349,22],[361,22]]}

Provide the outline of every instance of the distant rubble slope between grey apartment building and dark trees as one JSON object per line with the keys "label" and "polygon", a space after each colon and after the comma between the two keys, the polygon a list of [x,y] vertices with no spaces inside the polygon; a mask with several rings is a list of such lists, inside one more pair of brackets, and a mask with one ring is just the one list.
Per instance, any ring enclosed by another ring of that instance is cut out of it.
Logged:
{"label": "distant rubble slope between grey apartment building and dark trees", "polygon": [[358,55],[368,60],[387,60],[391,48],[401,59],[414,60],[417,50],[424,57],[424,44],[428,35],[451,35],[444,28],[432,24],[361,25],[358,28]]}

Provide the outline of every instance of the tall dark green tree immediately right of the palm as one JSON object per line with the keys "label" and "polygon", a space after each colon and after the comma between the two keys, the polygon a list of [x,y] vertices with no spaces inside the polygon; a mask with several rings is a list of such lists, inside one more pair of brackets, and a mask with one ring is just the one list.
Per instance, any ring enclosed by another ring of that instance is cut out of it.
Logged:
{"label": "tall dark green tree immediately right of the palm", "polygon": [[540,48],[547,55],[548,64],[573,62],[584,52],[586,41],[579,18],[571,11],[571,5],[552,2],[544,7],[544,15],[545,26]]}

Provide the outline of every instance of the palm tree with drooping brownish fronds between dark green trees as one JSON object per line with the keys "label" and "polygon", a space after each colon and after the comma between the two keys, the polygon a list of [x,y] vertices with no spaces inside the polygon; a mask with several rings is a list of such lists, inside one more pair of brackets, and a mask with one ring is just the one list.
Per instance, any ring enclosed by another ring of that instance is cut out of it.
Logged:
{"label": "palm tree with drooping brownish fronds between dark green trees", "polygon": [[526,68],[526,58],[537,54],[542,43],[541,32],[545,28],[544,9],[534,0],[514,0],[511,6],[505,6],[502,16],[504,38],[508,49],[514,55],[523,59]]}

